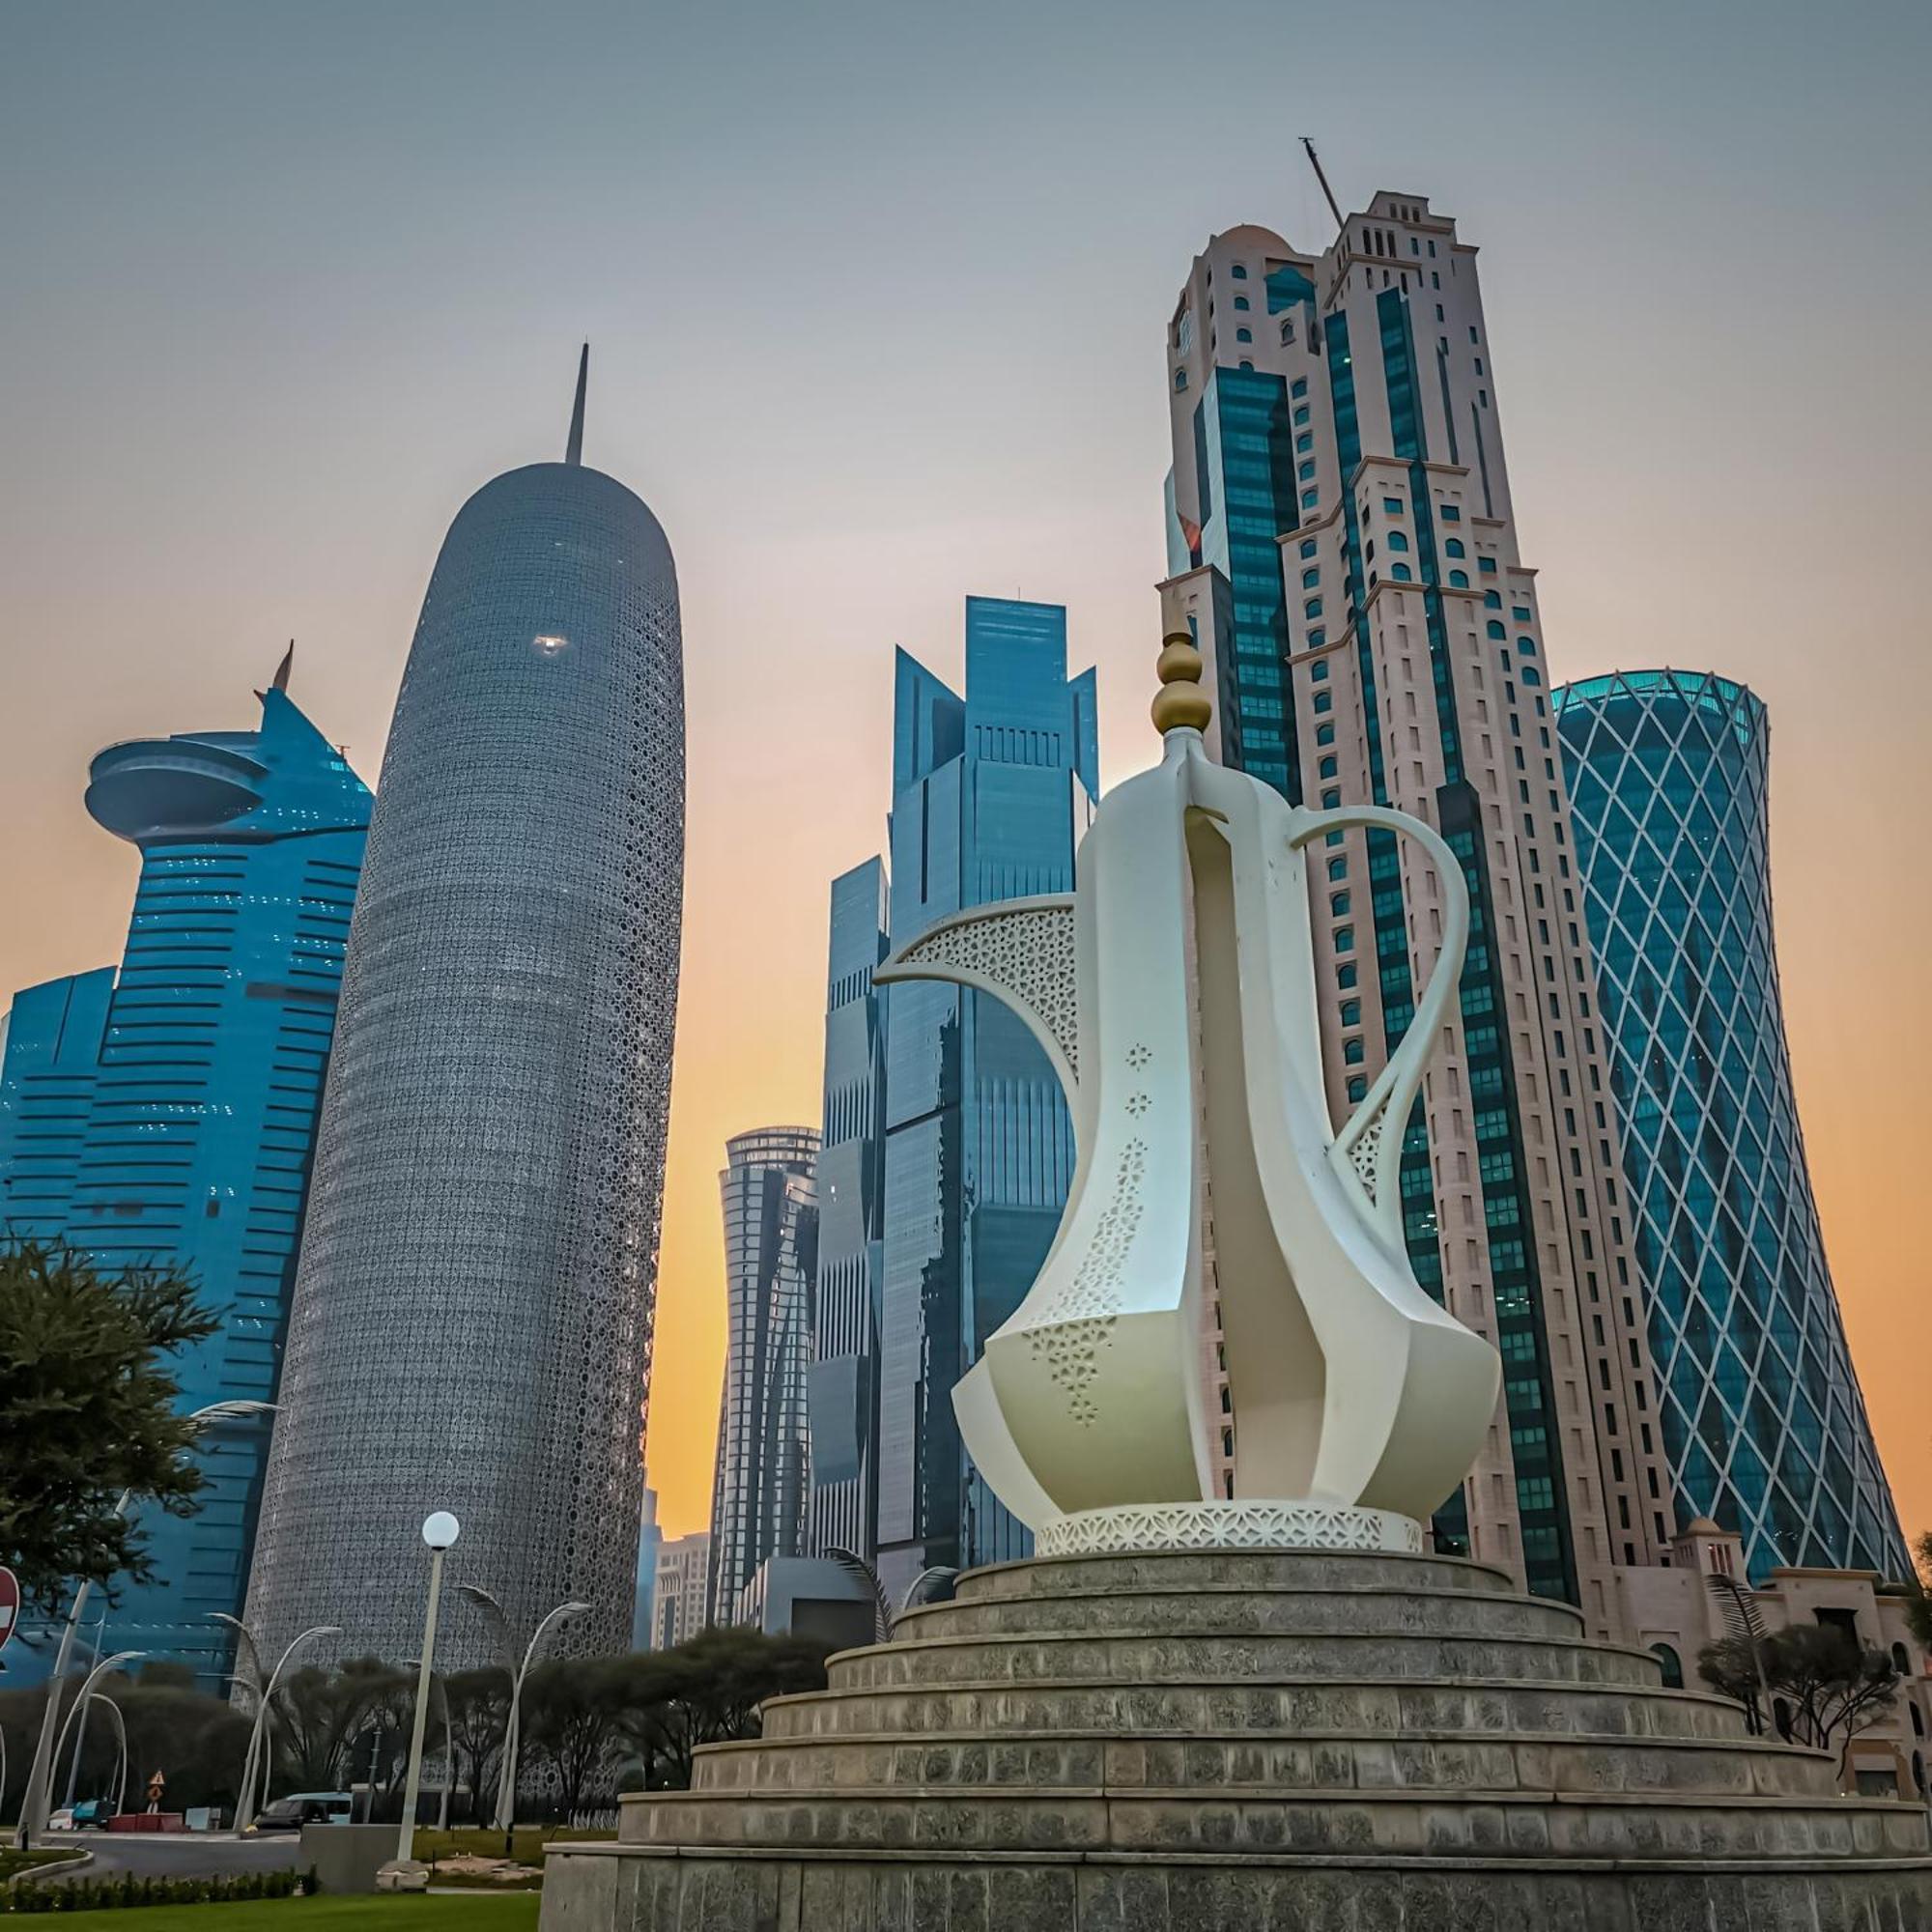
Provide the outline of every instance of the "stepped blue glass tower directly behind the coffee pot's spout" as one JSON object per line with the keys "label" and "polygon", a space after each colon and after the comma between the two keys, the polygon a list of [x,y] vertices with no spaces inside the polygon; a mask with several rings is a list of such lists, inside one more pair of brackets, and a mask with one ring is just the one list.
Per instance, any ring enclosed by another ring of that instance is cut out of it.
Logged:
{"label": "stepped blue glass tower directly behind the coffee pot's spout", "polygon": [[[1094,672],[1066,676],[1059,605],[966,599],[966,696],[898,653],[893,947],[962,906],[1070,893],[1099,796]],[[1039,1273],[1072,1122],[1026,1028],[941,981],[895,987],[885,1045],[879,1573],[1026,1553],[966,1461],[952,1385]]]}

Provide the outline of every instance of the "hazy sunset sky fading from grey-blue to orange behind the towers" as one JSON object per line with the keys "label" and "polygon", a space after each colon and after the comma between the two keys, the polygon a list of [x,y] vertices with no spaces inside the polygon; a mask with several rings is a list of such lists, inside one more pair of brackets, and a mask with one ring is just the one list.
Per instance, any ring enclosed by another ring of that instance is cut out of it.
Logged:
{"label": "hazy sunset sky fading from grey-blue to orange behind the towers", "polygon": [[[1430,195],[1482,245],[1559,676],[1774,723],[1785,1005],[1909,1532],[1932,1526],[1922,504],[1932,10],[0,0],[0,989],[118,956],[114,738],[294,696],[375,775],[462,500],[585,456],[678,556],[690,866],[651,1478],[707,1520],[728,1132],[817,1119],[825,887],[895,641],[1068,607],[1146,723],[1163,327],[1209,232]],[[4,993],[0,993],[4,997]],[[1917,1209],[1913,1209],[1917,1211]]]}

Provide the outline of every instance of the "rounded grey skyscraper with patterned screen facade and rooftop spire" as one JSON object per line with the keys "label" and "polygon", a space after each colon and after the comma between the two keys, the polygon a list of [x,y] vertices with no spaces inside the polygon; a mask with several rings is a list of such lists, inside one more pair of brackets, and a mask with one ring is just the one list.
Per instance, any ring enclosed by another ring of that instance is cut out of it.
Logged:
{"label": "rounded grey skyscraper with patterned screen facade and rooftop spire", "polygon": [[[576,1650],[630,1640],[684,877],[670,547],[568,454],[442,543],[350,933],[249,1580],[263,1650],[311,1623],[419,1642],[417,1526],[454,1580]],[[481,1662],[458,1613],[440,1662]]]}

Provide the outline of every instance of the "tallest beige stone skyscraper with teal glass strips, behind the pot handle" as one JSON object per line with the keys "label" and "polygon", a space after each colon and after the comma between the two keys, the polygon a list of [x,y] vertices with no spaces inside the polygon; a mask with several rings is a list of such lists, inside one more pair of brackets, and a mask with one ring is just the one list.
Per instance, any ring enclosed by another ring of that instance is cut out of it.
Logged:
{"label": "tallest beige stone skyscraper with teal glass strips, behind the pot handle", "polygon": [[[1604,1041],[1561,916],[1571,833],[1490,354],[1476,249],[1418,195],[1378,193],[1320,255],[1213,236],[1167,332],[1163,616],[1208,663],[1211,755],[1308,806],[1410,811],[1463,862],[1461,1010],[1405,1124],[1403,1227],[1416,1279],[1505,1376],[1435,1548],[1611,1634],[1613,1569],[1656,1561],[1671,1520],[1642,1327],[1611,1287],[1631,1254],[1615,1134],[1577,1105]],[[1256,736],[1277,701],[1279,755]],[[1443,885],[1406,842],[1349,831],[1312,896],[1343,1119],[1414,1016]]]}

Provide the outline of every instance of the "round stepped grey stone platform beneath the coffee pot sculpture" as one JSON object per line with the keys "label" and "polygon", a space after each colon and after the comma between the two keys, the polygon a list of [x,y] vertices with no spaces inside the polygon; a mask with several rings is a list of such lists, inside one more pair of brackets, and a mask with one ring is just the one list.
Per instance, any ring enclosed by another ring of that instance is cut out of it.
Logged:
{"label": "round stepped grey stone platform beneath the coffee pot sculpture", "polygon": [[829,1677],[543,1932],[1932,1932],[1922,1806],[1476,1563],[1007,1563]]}

